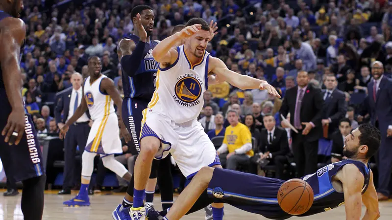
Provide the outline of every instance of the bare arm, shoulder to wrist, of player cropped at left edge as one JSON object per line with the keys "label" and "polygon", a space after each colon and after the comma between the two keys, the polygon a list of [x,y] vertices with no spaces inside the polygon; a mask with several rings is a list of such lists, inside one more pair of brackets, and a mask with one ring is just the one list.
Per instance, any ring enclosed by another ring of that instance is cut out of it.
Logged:
{"label": "bare arm, shoulder to wrist, of player cropped at left edge", "polygon": [[9,17],[3,19],[0,26],[0,64],[5,91],[12,110],[24,110],[19,56],[26,34],[25,23]]}

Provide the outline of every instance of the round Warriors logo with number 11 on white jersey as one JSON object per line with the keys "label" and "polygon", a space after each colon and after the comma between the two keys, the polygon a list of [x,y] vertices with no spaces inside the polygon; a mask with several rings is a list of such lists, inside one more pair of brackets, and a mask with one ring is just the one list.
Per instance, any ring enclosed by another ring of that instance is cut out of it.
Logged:
{"label": "round Warriors logo with number 11 on white jersey", "polygon": [[192,73],[187,73],[177,78],[173,98],[185,107],[195,106],[200,103],[198,98],[201,95],[203,85],[202,79]]}

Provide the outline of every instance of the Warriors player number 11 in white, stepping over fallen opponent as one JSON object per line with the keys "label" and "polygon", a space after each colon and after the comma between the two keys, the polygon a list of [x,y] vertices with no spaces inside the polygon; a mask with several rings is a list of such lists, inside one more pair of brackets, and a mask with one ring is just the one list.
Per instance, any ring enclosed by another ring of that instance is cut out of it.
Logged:
{"label": "Warriors player number 11 in white, stepping over fallen opponent", "polygon": [[[205,51],[210,37],[208,23],[194,18],[152,51],[160,66],[154,95],[143,112],[141,151],[135,164],[134,201],[130,209],[132,220],[145,220],[148,214],[143,207],[143,192],[154,156],[161,159],[170,151],[187,178],[195,176],[203,166],[221,167],[214,145],[197,122],[203,108],[202,94],[208,89],[208,74],[240,89],[267,89],[280,97],[266,81],[233,72],[220,59],[211,57]],[[173,47],[184,38],[184,45]],[[223,204],[213,204],[214,220],[221,220],[222,216]]]}

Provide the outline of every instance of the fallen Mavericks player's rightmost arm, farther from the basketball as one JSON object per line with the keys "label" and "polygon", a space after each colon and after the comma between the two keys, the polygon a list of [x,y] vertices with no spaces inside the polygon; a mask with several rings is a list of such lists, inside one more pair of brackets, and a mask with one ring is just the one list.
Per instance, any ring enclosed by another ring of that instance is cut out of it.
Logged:
{"label": "fallen Mavericks player's rightmost arm, farther from the basketball", "polygon": [[370,179],[368,189],[362,194],[362,201],[366,206],[366,213],[362,220],[376,220],[380,218],[380,210],[378,209],[377,191],[373,183],[373,172],[370,170]]}

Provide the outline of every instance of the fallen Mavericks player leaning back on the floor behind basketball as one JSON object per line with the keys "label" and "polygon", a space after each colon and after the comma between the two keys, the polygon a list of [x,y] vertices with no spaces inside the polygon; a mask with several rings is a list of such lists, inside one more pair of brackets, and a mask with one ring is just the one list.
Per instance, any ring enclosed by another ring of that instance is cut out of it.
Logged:
{"label": "fallen Mavericks player leaning back on the floor behind basketball", "polygon": [[[312,187],[314,202],[300,216],[314,215],[345,204],[346,219],[359,220],[363,202],[367,208],[363,220],[378,219],[377,192],[368,160],[377,152],[380,138],[380,132],[374,126],[362,124],[345,137],[343,154],[348,159],[301,177]],[[288,219],[292,215],[284,212],[277,201],[278,190],[284,182],[238,171],[204,167],[176,199],[164,220],[179,220],[206,189],[211,202],[228,203],[269,219]],[[158,219],[157,212],[148,213],[149,220]]]}

